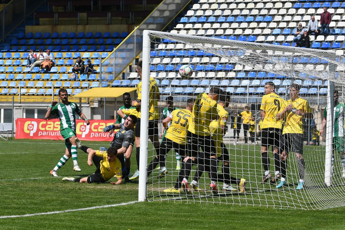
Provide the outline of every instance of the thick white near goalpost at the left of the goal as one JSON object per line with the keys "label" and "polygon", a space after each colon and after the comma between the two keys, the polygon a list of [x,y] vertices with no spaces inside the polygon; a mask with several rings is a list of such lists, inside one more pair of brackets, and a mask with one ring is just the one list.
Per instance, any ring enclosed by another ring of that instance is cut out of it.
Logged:
{"label": "thick white near goalpost at the left of the goal", "polygon": [[147,124],[149,120],[149,76],[150,76],[150,36],[144,30],[142,35],[142,78],[141,78],[141,119],[140,119],[140,160],[139,160],[139,201],[147,200]]}

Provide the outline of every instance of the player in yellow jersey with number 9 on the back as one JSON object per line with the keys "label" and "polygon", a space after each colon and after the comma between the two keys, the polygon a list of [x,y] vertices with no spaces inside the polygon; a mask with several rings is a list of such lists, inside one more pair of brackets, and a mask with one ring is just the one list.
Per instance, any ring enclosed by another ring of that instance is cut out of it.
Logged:
{"label": "player in yellow jersey with number 9 on the back", "polygon": [[[277,120],[279,112],[285,100],[275,93],[275,85],[272,81],[265,84],[265,95],[261,101],[261,117],[263,119],[261,126],[261,161],[265,170],[261,183],[277,183],[280,178],[280,155],[279,141],[282,135],[282,120]],[[269,172],[268,147],[272,146],[275,176],[272,178]]]}

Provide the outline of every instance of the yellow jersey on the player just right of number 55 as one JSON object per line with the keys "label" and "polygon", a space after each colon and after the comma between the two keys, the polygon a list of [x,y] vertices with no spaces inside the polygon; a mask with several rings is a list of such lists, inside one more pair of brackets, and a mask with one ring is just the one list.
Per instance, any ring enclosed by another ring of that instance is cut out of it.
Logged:
{"label": "yellow jersey on the player just right of number 55", "polygon": [[192,120],[188,131],[199,136],[209,136],[210,123],[218,116],[217,104],[207,93],[200,93],[193,105]]}

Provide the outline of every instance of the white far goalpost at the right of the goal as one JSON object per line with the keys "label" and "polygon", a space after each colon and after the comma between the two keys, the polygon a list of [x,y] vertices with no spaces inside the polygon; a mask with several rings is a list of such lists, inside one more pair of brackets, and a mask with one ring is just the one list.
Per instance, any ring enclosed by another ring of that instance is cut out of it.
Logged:
{"label": "white far goalpost at the right of the goal", "polygon": [[[335,65],[329,64],[329,73],[334,74]],[[332,138],[334,113],[334,81],[328,81],[327,89],[327,118],[326,118],[326,156],[325,156],[325,186],[332,186]]]}

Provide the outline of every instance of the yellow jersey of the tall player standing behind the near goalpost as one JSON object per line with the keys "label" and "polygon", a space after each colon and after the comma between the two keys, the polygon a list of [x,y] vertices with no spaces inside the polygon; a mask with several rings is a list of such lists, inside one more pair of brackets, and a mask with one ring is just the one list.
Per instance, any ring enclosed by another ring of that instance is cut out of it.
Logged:
{"label": "yellow jersey of the tall player standing behind the near goalpost", "polygon": [[[141,84],[140,81],[137,87],[137,95],[138,99],[141,100]],[[157,97],[159,95],[159,88],[157,85],[157,81],[154,78],[150,78],[150,85],[149,85],[149,121],[158,120],[159,113],[158,113],[158,100]],[[141,118],[141,115],[139,114]]]}

